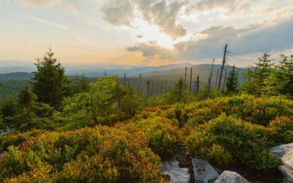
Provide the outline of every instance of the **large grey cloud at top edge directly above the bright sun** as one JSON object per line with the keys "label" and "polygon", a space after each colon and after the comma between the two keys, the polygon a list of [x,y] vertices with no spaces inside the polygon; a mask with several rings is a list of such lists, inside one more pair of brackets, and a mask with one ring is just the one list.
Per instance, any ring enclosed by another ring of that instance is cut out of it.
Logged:
{"label": "large grey cloud at top edge directly above the bright sun", "polygon": [[187,33],[186,28],[176,22],[176,18],[188,2],[188,0],[168,1],[168,3],[155,0],[109,0],[102,8],[103,19],[115,26],[125,25],[134,28],[136,18],[142,15],[142,20],[150,25],[157,25],[163,33],[175,40]]}

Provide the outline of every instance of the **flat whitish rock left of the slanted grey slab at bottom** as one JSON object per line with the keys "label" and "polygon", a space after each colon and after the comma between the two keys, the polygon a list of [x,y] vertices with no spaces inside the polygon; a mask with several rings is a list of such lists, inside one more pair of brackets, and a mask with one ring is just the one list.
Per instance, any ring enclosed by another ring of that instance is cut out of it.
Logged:
{"label": "flat whitish rock left of the slanted grey slab at bottom", "polygon": [[162,174],[170,176],[170,183],[190,183],[188,168],[180,168],[178,161],[165,161],[161,169]]}

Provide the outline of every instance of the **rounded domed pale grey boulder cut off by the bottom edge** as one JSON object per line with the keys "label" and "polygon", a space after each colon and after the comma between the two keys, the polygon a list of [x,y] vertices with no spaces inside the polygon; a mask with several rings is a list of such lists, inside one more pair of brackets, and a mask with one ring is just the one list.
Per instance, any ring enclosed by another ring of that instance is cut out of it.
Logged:
{"label": "rounded domed pale grey boulder cut off by the bottom edge", "polygon": [[249,183],[241,175],[234,171],[223,171],[223,173],[216,179],[214,183]]}

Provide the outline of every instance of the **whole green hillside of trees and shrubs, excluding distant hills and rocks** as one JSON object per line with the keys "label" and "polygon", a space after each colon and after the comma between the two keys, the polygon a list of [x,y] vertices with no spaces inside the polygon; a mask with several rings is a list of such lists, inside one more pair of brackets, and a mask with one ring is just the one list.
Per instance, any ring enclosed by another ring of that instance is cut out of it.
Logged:
{"label": "whole green hillside of trees and shrubs, excluding distant hills and rocks", "polygon": [[225,66],[217,89],[216,74],[189,87],[185,68],[142,75],[141,85],[106,73],[70,79],[51,49],[36,67],[30,87],[1,101],[1,182],[168,182],[162,161],[193,172],[192,158],[250,182],[282,180],[268,148],[293,141],[293,55],[274,65],[264,53],[245,82]]}

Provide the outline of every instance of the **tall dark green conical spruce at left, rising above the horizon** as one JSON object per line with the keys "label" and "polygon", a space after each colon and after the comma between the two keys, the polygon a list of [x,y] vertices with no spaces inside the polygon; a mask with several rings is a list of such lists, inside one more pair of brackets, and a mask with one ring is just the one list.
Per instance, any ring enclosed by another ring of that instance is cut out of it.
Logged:
{"label": "tall dark green conical spruce at left, rising above the horizon", "polygon": [[33,72],[35,75],[32,78],[32,85],[38,101],[58,107],[62,98],[70,94],[70,82],[65,76],[65,68],[53,56],[50,47],[44,58],[37,59],[37,72]]}

